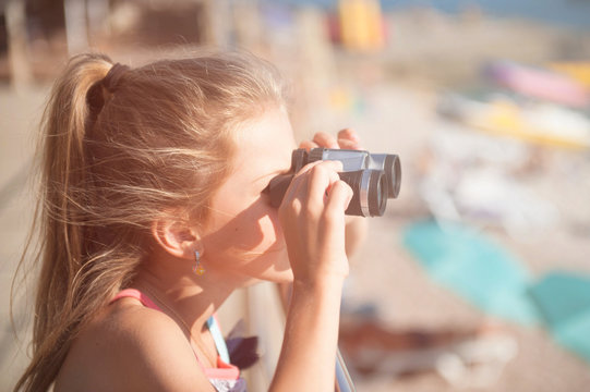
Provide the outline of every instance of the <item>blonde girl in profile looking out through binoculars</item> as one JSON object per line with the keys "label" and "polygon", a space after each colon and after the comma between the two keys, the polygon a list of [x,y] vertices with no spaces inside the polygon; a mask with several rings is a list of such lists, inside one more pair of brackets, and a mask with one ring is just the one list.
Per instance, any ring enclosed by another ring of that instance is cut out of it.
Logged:
{"label": "blonde girl in profile looking out through binoculars", "polygon": [[268,205],[296,148],[273,66],[75,57],[43,145],[34,352],[16,390],[243,391],[212,316],[258,280],[292,283],[270,389],[334,390],[352,191],[338,162],[314,162]]}

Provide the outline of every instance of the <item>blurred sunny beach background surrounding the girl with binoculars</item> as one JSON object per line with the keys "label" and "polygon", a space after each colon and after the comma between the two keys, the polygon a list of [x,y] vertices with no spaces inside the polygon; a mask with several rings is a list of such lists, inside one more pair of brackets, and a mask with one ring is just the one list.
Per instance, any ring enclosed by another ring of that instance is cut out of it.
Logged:
{"label": "blurred sunny beach background surrounding the girl with binoculars", "polygon": [[[590,389],[590,1],[1,0],[0,390],[26,364],[34,271],[13,323],[10,292],[51,81],[82,51],[203,47],[275,63],[299,139],[352,127],[401,159],[345,291],[359,391]],[[253,391],[280,347],[270,290],[227,304],[264,336]]]}

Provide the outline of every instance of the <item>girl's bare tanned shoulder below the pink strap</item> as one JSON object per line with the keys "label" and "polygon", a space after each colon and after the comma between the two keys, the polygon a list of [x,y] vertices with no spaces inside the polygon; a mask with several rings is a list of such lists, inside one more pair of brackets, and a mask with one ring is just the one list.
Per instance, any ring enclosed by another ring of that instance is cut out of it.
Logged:
{"label": "girl's bare tanned shoulder below the pink strap", "polygon": [[210,384],[178,324],[134,298],[121,298],[74,339],[56,391],[204,390]]}

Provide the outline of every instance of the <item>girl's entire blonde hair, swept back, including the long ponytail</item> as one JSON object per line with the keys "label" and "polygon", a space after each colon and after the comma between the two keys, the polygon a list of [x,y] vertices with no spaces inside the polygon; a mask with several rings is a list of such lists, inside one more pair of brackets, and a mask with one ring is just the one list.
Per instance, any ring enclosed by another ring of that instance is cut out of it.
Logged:
{"label": "girl's entire blonde hair, swept back, including the long ponytail", "polygon": [[15,390],[51,385],[84,322],[133,279],[152,222],[203,222],[236,128],[284,105],[276,70],[250,54],[71,59],[41,123],[33,357]]}

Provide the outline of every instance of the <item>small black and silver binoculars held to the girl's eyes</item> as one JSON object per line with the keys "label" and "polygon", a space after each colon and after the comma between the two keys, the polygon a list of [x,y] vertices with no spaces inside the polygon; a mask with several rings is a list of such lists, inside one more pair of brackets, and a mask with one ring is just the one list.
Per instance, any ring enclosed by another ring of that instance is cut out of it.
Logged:
{"label": "small black and silver binoculars held to the girl's eyes", "polygon": [[387,199],[396,198],[399,194],[401,167],[397,155],[329,148],[313,148],[308,152],[300,148],[293,150],[291,155],[289,173],[270,180],[266,188],[270,205],[280,206],[294,174],[305,164],[318,160],[342,162],[344,168],[338,175],[353,192],[346,215],[381,217],[385,212]]}

